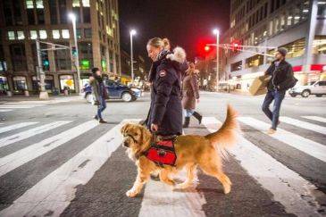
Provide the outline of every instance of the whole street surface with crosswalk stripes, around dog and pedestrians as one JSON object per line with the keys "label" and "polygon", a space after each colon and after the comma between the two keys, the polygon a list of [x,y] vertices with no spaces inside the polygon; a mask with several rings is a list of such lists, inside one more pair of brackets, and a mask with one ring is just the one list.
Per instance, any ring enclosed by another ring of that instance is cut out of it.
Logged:
{"label": "whole street surface with crosswalk stripes, around dog and pedestrians", "polygon": [[[226,104],[238,110],[242,137],[217,179],[197,172],[193,188],[172,191],[151,180],[136,198],[125,192],[136,166],[119,129],[146,117],[149,96],[108,102],[104,119],[79,96],[50,101],[0,98],[0,216],[318,216],[326,210],[326,97],[286,97],[278,132],[267,135],[263,96],[201,93],[185,134],[221,126]],[[184,179],[181,171],[178,179]]]}

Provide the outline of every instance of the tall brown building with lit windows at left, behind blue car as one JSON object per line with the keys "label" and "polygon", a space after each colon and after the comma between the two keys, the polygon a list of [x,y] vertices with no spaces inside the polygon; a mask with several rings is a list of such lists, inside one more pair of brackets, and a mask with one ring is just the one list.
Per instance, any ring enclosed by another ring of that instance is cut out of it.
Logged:
{"label": "tall brown building with lit windows at left, behind blue car", "polygon": [[0,12],[0,92],[38,93],[36,39],[68,47],[51,50],[41,43],[41,49],[49,49],[42,51],[46,91],[79,91],[69,13],[77,18],[82,83],[92,67],[105,77],[121,74],[118,0],[2,0]]}

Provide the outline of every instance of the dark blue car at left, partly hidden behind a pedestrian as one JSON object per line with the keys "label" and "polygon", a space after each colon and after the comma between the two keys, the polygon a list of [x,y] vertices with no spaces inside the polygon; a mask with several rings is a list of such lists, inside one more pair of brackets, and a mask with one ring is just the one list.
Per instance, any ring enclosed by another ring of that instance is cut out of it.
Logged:
{"label": "dark blue car at left, partly hidden behind a pedestrian", "polygon": [[[104,80],[104,86],[110,99],[122,99],[125,102],[132,102],[142,95],[141,89],[125,86],[111,79]],[[83,88],[83,92],[88,103],[92,103],[94,101],[92,87],[86,84]]]}

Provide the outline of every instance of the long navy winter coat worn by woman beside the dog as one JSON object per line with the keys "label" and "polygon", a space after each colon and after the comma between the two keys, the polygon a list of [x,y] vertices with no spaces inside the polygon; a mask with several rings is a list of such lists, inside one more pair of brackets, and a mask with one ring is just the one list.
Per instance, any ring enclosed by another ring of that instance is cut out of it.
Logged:
{"label": "long navy winter coat worn by woman beside the dog", "polygon": [[158,125],[157,135],[182,134],[181,71],[184,63],[166,58],[170,52],[164,52],[153,63],[149,81],[151,88],[151,107],[146,120],[147,128],[152,123]]}

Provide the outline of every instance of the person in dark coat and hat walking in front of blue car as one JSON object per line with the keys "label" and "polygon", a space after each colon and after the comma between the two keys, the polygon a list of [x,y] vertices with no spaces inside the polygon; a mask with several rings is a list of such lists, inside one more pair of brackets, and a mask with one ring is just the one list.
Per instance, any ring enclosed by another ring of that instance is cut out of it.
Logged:
{"label": "person in dark coat and hat walking in front of blue car", "polygon": [[89,77],[89,84],[92,86],[94,101],[97,105],[97,113],[94,116],[94,119],[100,123],[106,123],[106,121],[103,120],[102,113],[106,108],[105,100],[109,97],[104,86],[102,72],[98,68],[92,69],[92,76]]}

